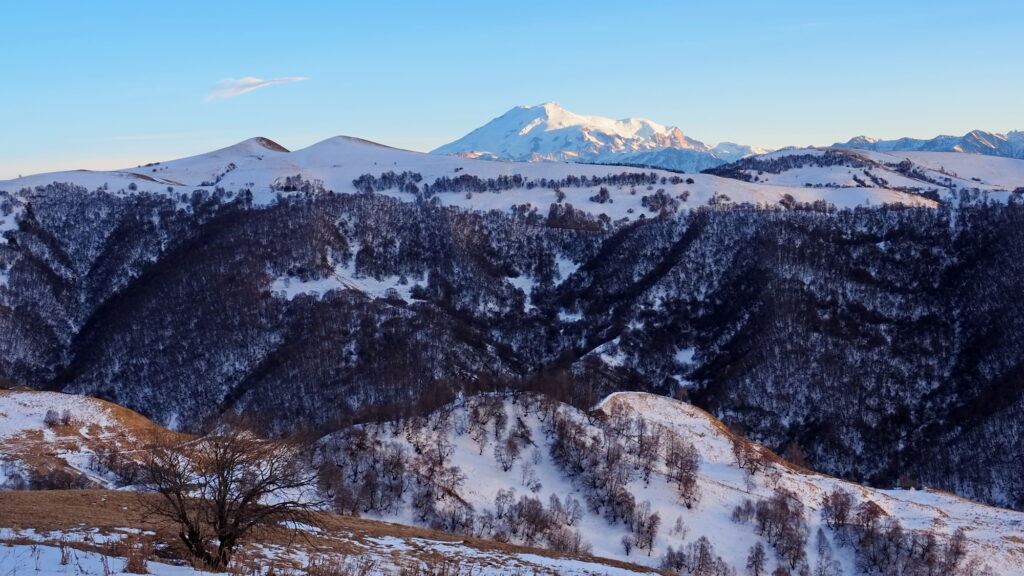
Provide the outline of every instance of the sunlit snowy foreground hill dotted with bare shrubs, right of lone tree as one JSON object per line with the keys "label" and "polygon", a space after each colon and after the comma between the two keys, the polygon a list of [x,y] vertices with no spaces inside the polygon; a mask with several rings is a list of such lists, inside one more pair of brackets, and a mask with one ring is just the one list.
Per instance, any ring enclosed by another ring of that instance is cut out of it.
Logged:
{"label": "sunlit snowy foreground hill dotted with bare shrubs, right of lone tree", "polygon": [[[859,574],[865,561],[855,552],[857,537],[844,532],[849,527],[829,527],[821,511],[825,495],[842,491],[862,508],[873,502],[920,538],[931,533],[945,542],[964,529],[974,557],[965,566],[983,561],[995,574],[1024,573],[1013,537],[1022,513],[809,472],[665,397],[616,394],[589,415],[534,397],[477,397],[423,420],[353,428],[323,445],[338,466],[331,484],[338,505],[372,518],[652,567],[707,552],[742,570],[760,543],[769,567]],[[680,471],[687,447],[697,455],[692,485]],[[746,454],[742,466],[739,453]],[[399,468],[415,479],[403,495],[394,492]],[[751,520],[752,505],[780,497],[798,502],[791,508],[800,526],[796,551]]]}

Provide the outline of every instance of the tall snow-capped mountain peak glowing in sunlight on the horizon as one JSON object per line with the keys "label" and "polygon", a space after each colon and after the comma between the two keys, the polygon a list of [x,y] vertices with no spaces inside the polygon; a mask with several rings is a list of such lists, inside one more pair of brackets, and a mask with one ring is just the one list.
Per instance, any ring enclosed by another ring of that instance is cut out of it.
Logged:
{"label": "tall snow-capped mountain peak glowing in sunlight on the horizon", "polygon": [[723,142],[710,147],[675,126],[644,118],[612,120],[557,102],[520,106],[444,145],[433,154],[515,160],[649,165],[698,171],[764,150]]}

